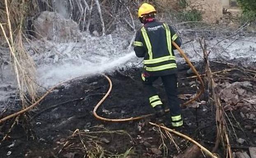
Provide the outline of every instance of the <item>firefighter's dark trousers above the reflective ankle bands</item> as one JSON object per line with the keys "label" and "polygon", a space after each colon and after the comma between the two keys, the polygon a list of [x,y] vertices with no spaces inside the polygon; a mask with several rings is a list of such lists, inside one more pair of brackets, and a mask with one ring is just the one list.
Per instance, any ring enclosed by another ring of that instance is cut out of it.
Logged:
{"label": "firefighter's dark trousers above the reflective ankle bands", "polygon": [[178,82],[176,74],[166,76],[142,76],[144,88],[148,92],[148,98],[158,95],[156,88],[153,86],[153,82],[159,77],[164,83],[164,88],[168,98],[168,108],[170,109],[171,116],[181,114],[180,102],[177,92]]}

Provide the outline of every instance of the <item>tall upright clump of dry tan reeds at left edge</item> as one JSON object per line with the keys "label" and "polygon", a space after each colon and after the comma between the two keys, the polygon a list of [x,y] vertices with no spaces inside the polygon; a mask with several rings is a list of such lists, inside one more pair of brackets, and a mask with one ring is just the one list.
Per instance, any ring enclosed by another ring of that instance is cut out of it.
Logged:
{"label": "tall upright clump of dry tan reeds at left edge", "polygon": [[0,4],[5,6],[5,8],[0,8],[1,32],[9,46],[11,63],[23,108],[35,102],[37,91],[35,64],[23,44],[25,37],[23,23],[30,2],[25,2],[25,0],[0,1]]}

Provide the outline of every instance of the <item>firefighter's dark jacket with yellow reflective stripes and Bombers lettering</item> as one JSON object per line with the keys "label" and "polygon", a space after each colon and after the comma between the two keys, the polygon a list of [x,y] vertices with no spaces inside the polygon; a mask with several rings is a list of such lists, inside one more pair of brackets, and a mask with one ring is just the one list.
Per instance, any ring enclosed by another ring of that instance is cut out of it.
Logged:
{"label": "firefighter's dark jacket with yellow reflective stripes and Bombers lettering", "polygon": [[134,41],[137,57],[144,57],[144,72],[149,76],[164,76],[177,72],[171,41],[178,46],[181,40],[171,26],[158,21],[145,24],[138,30]]}

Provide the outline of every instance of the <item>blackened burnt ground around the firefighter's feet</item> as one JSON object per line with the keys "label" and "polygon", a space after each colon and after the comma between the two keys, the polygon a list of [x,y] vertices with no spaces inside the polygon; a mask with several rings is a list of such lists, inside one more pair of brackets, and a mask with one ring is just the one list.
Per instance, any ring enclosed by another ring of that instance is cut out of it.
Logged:
{"label": "blackened burnt ground around the firefighter's feet", "polygon": [[[224,64],[213,65],[212,71],[222,70],[227,67]],[[186,68],[187,66],[184,65],[179,66],[179,94],[195,94],[196,87],[189,85],[189,82],[195,79],[182,79],[186,77]],[[232,78],[229,78],[230,82],[237,81],[242,77],[239,72],[231,71],[228,74],[232,76],[236,75],[233,81]],[[108,96],[98,110],[100,116],[107,118],[127,118],[154,112],[150,105],[148,105],[148,99],[145,95],[146,92],[143,90],[140,69],[119,70],[114,73],[108,73],[107,75],[113,82],[113,89],[111,95]],[[84,151],[78,149],[79,147],[77,147],[77,151],[76,148],[64,148],[60,154],[58,154],[58,151],[62,149],[63,142],[66,142],[67,138],[76,129],[80,131],[84,129],[99,131],[103,127],[105,130],[125,130],[132,137],[131,139],[127,135],[114,133],[97,135],[97,137],[104,137],[104,140],[101,141],[101,146],[112,153],[124,153],[132,147],[134,154],[130,156],[131,158],[162,158],[164,156],[172,158],[178,154],[173,143],[169,144],[166,139],[168,154],[163,155],[164,150],[161,147],[159,148],[162,143],[161,136],[157,128],[153,128],[153,126],[148,124],[151,121],[154,123],[164,123],[168,126],[170,125],[168,114],[164,117],[157,118],[152,116],[125,123],[109,123],[95,119],[92,110],[99,100],[101,100],[102,93],[106,93],[108,87],[108,81],[101,75],[73,80],[69,82],[69,86],[59,87],[38,105],[37,110],[31,112],[31,130],[29,132],[25,132],[26,130],[23,128],[22,120],[15,126],[8,139],[0,145],[0,158],[65,158],[68,157],[65,154],[71,152],[75,152],[71,158],[82,158]],[[161,85],[161,80],[157,80],[155,87],[157,87],[163,102],[166,103],[166,96],[164,87]],[[185,100],[180,101],[185,102]],[[201,96],[201,101],[208,101],[207,91]],[[56,106],[52,107],[54,105]],[[199,108],[183,109],[182,114],[185,125],[183,128],[178,129],[178,131],[198,140],[198,142],[201,142],[210,150],[214,147],[216,136],[215,111],[212,107],[212,105],[206,104],[200,105]],[[227,114],[230,115],[229,112]],[[242,118],[239,109],[234,110],[233,114],[241,127],[246,125],[251,126],[250,129],[242,128],[242,131],[233,117],[230,117],[237,136],[245,140],[244,144],[238,144],[235,136],[231,135],[233,151],[248,151],[248,147],[256,147],[256,135],[253,133],[254,128],[256,128],[254,120]],[[6,122],[1,128],[1,132],[6,132],[11,124],[11,121]],[[98,127],[92,128],[94,126]],[[3,135],[0,135],[1,140],[2,137]],[[175,140],[182,151],[190,145],[187,141],[176,136]],[[69,144],[72,145],[72,141],[75,142],[76,140],[69,139]],[[8,147],[11,144],[14,144],[14,147]],[[161,152],[152,150],[155,148],[159,148]],[[8,151],[11,151],[9,156],[7,156]],[[223,157],[224,153],[221,146],[217,153]]]}

